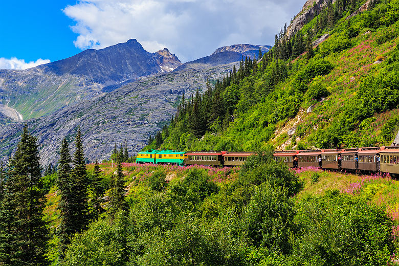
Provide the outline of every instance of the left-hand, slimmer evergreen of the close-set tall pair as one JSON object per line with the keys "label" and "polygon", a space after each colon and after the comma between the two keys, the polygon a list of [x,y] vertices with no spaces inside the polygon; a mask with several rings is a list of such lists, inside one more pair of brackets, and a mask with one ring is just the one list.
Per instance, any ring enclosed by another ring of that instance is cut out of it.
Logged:
{"label": "left-hand, slimmer evergreen of the close-set tall pair", "polygon": [[60,158],[58,161],[58,178],[57,185],[60,192],[60,201],[58,203],[58,209],[60,210],[60,226],[57,230],[59,238],[59,255],[58,260],[62,261],[66,246],[71,243],[71,238],[75,232],[74,223],[75,216],[72,213],[72,184],[71,184],[71,155],[69,150],[68,141],[64,138],[61,142]]}

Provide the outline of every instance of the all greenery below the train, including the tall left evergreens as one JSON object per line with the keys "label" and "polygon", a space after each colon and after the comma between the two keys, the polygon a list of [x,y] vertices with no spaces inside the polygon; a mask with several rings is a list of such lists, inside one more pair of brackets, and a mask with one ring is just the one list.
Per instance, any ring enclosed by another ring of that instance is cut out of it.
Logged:
{"label": "all greenery below the train, including the tall left evergreens", "polygon": [[122,164],[123,153],[86,165],[80,130],[73,149],[64,139],[41,177],[25,127],[0,171],[0,265],[397,265],[399,184],[385,176],[315,193],[345,174],[308,178],[270,152],[241,168]]}

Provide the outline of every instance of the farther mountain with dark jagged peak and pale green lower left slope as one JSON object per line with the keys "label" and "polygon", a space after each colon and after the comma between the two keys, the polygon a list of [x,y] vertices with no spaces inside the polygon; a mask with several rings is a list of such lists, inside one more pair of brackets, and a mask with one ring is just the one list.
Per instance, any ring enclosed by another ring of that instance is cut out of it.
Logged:
{"label": "farther mountain with dark jagged peak and pale green lower left slope", "polygon": [[50,114],[81,100],[103,95],[102,89],[181,65],[167,49],[149,53],[136,39],[28,70],[0,70],[0,104],[23,119]]}

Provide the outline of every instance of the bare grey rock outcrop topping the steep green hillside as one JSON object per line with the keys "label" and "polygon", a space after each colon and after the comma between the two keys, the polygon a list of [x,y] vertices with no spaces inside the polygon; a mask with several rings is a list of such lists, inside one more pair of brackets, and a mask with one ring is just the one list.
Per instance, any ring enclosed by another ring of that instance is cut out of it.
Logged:
{"label": "bare grey rock outcrop topping the steep green hillside", "polygon": [[335,3],[336,0],[307,0],[303,5],[301,12],[299,12],[291,25],[287,28],[286,36],[291,38],[310,20],[312,20],[323,9],[328,2]]}

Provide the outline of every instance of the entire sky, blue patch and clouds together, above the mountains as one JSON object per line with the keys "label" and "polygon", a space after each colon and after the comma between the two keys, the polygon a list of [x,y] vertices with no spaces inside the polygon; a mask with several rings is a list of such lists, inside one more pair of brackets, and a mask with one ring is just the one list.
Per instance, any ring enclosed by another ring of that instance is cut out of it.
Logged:
{"label": "entire sky, blue patch and clouds together, above the mountains", "polygon": [[[237,43],[273,45],[304,0],[3,1],[0,68],[25,69],[136,38],[182,62]],[[28,62],[31,62],[28,64]]]}

